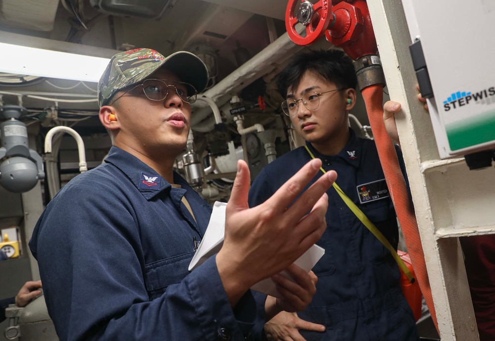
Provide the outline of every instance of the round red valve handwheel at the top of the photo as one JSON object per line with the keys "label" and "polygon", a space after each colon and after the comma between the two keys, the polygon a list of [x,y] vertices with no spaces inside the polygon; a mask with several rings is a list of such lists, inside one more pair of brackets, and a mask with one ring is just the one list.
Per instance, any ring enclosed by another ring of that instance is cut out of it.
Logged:
{"label": "round red valve handwheel at the top of the photo", "polygon": [[[291,40],[297,45],[307,46],[316,43],[328,28],[332,16],[332,4],[329,0],[319,0],[311,3],[308,0],[301,2],[299,12],[295,14],[299,0],[289,0],[285,12],[285,27]],[[306,37],[296,31],[296,24],[306,26]],[[315,27],[316,26],[316,27]]]}

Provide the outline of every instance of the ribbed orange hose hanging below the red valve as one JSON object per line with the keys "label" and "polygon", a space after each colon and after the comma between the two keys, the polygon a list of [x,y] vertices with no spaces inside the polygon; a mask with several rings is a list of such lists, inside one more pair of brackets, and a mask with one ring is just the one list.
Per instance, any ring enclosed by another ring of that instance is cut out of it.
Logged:
{"label": "ribbed orange hose hanging below the red valve", "polygon": [[407,251],[411,257],[412,266],[419,282],[421,292],[432,315],[433,323],[438,331],[437,315],[433,305],[430,281],[426,271],[425,255],[419,236],[418,223],[414,215],[414,209],[409,200],[404,176],[400,171],[396,149],[383,122],[383,85],[377,84],[362,90],[370,120],[373,138],[378,149],[380,163],[382,164],[387,186],[396,209],[400,228],[404,234]]}

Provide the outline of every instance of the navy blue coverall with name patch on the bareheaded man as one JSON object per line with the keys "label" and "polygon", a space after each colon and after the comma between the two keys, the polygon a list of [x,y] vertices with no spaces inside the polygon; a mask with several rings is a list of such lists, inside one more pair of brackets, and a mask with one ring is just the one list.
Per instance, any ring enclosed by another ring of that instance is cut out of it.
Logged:
{"label": "navy blue coverall with name patch on the bareheaded man", "polygon": [[[347,146],[337,155],[318,153],[325,171],[337,171],[337,184],[397,247],[396,214],[386,188],[374,141],[350,130]],[[397,148],[402,173],[405,167]],[[264,202],[311,159],[304,147],[268,164],[249,191],[249,206]],[[323,173],[320,171],[308,187]],[[318,245],[324,256],[313,268],[316,294],[298,316],[327,327],[326,332],[300,331],[307,341],[416,341],[412,311],[402,295],[399,268],[391,252],[358,220],[334,188],[327,191],[327,229]],[[289,208],[290,209],[290,208]]]}

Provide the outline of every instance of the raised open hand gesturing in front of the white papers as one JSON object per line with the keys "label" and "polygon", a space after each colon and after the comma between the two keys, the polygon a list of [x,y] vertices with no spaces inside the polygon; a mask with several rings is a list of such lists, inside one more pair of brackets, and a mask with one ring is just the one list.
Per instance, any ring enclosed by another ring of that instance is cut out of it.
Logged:
{"label": "raised open hand gesturing in front of the white papers", "polygon": [[216,256],[218,272],[232,305],[253,284],[287,269],[325,231],[325,192],[337,173],[327,172],[301,194],[320,167],[319,159],[311,160],[268,200],[249,208],[249,169],[246,162],[238,161],[226,208],[225,240]]}

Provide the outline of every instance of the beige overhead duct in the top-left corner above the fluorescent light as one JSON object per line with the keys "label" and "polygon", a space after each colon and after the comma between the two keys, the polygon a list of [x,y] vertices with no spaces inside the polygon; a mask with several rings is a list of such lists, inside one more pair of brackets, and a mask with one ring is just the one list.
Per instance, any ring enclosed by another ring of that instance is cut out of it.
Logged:
{"label": "beige overhead duct in the top-left corner above the fluorescent light", "polygon": [[59,0],[2,0],[0,24],[6,27],[52,31]]}

